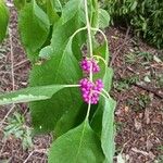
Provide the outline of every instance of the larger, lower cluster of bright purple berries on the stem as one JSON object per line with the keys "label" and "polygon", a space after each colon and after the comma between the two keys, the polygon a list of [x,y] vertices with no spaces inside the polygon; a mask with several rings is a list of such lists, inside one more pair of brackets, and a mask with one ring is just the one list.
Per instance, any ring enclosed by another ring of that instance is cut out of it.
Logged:
{"label": "larger, lower cluster of bright purple berries on the stem", "polygon": [[80,82],[80,90],[83,99],[87,103],[97,104],[100,97],[100,91],[103,88],[103,83],[101,79],[97,79],[91,83],[88,78],[83,78]]}

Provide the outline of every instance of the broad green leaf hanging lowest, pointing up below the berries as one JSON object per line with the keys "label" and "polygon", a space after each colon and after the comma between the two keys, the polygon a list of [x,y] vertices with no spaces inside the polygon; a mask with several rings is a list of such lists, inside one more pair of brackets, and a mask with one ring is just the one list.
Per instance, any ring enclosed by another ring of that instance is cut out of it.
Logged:
{"label": "broad green leaf hanging lowest, pointing up below the berries", "polygon": [[59,137],[50,148],[49,163],[102,163],[100,140],[87,121]]}

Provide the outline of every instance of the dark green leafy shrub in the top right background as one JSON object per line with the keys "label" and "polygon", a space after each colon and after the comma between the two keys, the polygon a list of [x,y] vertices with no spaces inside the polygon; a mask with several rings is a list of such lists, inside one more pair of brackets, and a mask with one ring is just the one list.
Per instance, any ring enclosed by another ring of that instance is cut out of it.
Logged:
{"label": "dark green leafy shrub in the top right background", "polygon": [[163,1],[105,0],[102,2],[112,24],[131,25],[134,33],[150,45],[163,48]]}

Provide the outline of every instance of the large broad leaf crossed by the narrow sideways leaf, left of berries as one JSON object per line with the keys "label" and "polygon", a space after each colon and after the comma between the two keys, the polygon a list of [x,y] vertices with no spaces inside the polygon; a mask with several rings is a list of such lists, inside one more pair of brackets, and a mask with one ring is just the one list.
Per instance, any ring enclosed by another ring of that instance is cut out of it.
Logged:
{"label": "large broad leaf crossed by the narrow sideways leaf, left of berries", "polygon": [[[68,68],[70,67],[70,68]],[[48,73],[47,73],[48,72]],[[49,73],[50,72],[50,73]],[[82,70],[72,51],[72,40],[63,53],[57,53],[42,65],[34,66],[30,85],[77,84],[82,78]],[[33,124],[38,131],[53,130],[57,122],[68,110],[80,109],[83,101],[78,88],[60,91],[50,100],[30,103]],[[41,130],[39,129],[41,126]]]}

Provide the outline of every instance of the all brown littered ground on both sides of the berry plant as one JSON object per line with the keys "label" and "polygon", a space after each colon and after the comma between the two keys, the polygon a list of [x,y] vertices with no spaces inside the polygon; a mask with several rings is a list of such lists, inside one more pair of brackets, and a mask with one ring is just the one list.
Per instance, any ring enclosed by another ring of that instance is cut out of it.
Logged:
{"label": "all brown littered ground on both sides of the berry plant", "polygon": [[[110,27],[105,34],[114,68],[111,96],[117,101],[115,162],[162,163],[163,52],[133,37],[130,28]],[[11,73],[12,64],[14,76]],[[11,7],[10,37],[0,45],[0,92],[26,87],[29,68],[30,64],[20,43],[16,12]],[[26,150],[14,136],[4,139],[8,117],[14,112],[23,114],[26,125],[30,127],[26,105],[0,106],[0,163],[47,163],[46,150],[52,140],[50,135],[35,137],[33,147]]]}

